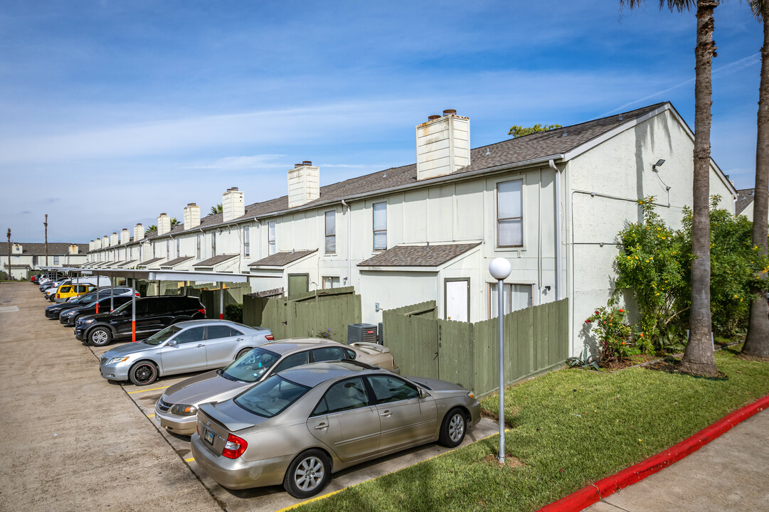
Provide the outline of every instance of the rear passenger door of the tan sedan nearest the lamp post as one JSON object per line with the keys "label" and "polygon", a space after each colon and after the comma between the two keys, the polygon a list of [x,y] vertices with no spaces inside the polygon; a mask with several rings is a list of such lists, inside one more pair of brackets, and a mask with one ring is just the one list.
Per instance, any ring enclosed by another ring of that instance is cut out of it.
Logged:
{"label": "rear passenger door of the tan sedan nearest the lamp post", "polygon": [[307,427],[345,462],[374,455],[379,450],[379,415],[361,377],[329,387]]}

